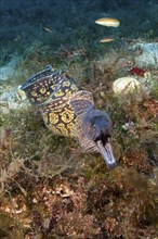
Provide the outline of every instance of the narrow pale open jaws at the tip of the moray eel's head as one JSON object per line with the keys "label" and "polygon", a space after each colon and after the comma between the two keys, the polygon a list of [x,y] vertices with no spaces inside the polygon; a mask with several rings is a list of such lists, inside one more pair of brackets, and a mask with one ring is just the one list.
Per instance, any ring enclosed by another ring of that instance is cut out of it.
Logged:
{"label": "narrow pale open jaws at the tip of the moray eel's head", "polygon": [[116,159],[113,153],[110,142],[106,142],[105,146],[103,144],[102,140],[96,141],[96,147],[98,152],[102,154],[106,165],[108,168],[114,168],[117,166]]}

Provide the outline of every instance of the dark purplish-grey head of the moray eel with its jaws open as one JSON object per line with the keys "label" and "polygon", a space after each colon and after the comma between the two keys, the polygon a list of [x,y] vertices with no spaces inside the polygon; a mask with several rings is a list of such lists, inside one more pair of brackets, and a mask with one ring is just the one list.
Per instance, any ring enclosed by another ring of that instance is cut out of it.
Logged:
{"label": "dark purplish-grey head of the moray eel with its jaws open", "polygon": [[90,109],[82,121],[83,141],[80,143],[88,152],[100,152],[108,168],[117,166],[113,154],[110,138],[113,126],[107,113]]}

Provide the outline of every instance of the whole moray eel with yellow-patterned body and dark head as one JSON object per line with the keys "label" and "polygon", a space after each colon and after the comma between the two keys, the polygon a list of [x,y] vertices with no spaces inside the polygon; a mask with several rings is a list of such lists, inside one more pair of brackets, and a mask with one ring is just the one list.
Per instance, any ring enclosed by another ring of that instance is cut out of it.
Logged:
{"label": "whole moray eel with yellow-patterned body and dark head", "polygon": [[69,76],[50,65],[29,77],[21,90],[38,105],[53,134],[75,137],[85,152],[100,152],[108,168],[117,165],[110,144],[110,118],[94,108],[90,91],[79,90]]}

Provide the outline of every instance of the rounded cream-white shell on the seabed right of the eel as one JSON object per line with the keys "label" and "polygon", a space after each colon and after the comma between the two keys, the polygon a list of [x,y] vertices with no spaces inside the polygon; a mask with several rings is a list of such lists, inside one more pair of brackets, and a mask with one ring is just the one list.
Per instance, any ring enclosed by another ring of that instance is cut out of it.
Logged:
{"label": "rounded cream-white shell on the seabed right of the eel", "polygon": [[118,78],[113,83],[113,90],[115,93],[128,93],[134,90],[140,90],[141,84],[133,77]]}

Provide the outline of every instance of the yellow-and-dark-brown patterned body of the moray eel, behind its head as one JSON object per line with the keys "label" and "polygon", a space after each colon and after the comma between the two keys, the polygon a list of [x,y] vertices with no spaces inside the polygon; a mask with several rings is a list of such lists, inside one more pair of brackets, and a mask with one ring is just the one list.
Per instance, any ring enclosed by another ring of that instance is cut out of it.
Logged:
{"label": "yellow-and-dark-brown patterned body of the moray eel, behind its head", "polygon": [[34,77],[35,81],[30,78],[22,89],[31,103],[39,105],[48,128],[55,135],[75,137],[77,112],[84,111],[90,93],[83,93],[71,78],[60,72],[45,70],[45,76],[43,71],[42,76],[39,73]]}

